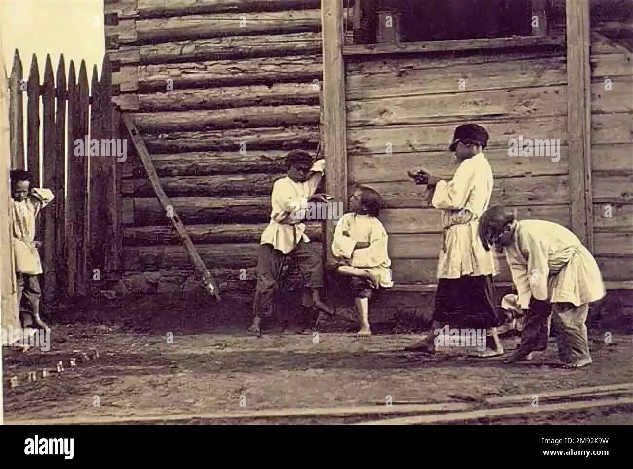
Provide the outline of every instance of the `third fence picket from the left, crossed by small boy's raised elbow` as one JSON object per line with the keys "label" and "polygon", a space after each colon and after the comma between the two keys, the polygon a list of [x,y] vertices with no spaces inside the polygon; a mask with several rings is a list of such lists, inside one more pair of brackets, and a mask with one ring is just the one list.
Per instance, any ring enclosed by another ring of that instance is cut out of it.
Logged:
{"label": "third fence picket from the left, crossed by small boy's raised elbow", "polygon": [[[44,66],[44,83],[42,85],[43,114],[42,125],[44,125],[44,145],[42,146],[42,186],[54,189],[55,167],[58,164],[55,152],[56,127],[55,127],[55,77],[53,75],[53,64],[51,56],[46,56],[46,66]],[[55,194],[57,197],[58,194]],[[44,269],[44,304],[50,304],[53,296],[58,290],[57,276],[55,269],[55,205],[42,211],[40,216],[41,232],[40,238],[43,242],[42,267]]]}

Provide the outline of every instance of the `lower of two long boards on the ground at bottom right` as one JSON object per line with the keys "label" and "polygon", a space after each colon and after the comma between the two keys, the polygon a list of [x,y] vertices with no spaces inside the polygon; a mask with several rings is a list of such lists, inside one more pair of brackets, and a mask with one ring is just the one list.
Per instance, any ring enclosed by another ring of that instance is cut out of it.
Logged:
{"label": "lower of two long boards on the ground at bottom right", "polygon": [[464,412],[449,412],[440,415],[422,415],[401,418],[385,418],[370,422],[355,423],[354,425],[428,425],[438,423],[465,422],[468,420],[498,419],[515,417],[517,415],[530,415],[536,413],[574,412],[592,408],[611,408],[621,405],[630,405],[633,398],[594,399],[590,401],[575,401],[556,404],[542,404],[536,407],[518,406],[484,410],[472,410]]}

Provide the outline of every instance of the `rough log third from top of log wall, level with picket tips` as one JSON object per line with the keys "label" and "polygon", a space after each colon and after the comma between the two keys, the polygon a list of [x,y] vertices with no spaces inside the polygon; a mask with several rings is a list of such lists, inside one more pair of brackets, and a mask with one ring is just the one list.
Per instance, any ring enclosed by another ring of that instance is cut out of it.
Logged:
{"label": "rough log third from top of log wall, level with picket tips", "polygon": [[108,52],[110,61],[125,64],[178,63],[220,59],[298,56],[320,53],[321,34],[302,32],[291,34],[265,34],[229,36],[213,39],[184,40],[121,46]]}

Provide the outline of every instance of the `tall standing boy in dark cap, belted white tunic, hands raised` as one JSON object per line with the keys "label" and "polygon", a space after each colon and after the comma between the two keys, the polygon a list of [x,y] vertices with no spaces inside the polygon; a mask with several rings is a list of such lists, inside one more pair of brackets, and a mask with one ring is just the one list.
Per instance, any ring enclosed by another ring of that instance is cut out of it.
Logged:
{"label": "tall standing boy in dark cap, belted white tunic, hands raised", "polygon": [[[456,128],[449,149],[460,166],[450,181],[441,181],[423,168],[409,173],[418,184],[427,185],[430,205],[442,210],[444,239],[437,262],[439,280],[433,325],[427,338],[407,350],[435,353],[434,331],[445,325],[498,325],[492,288],[495,260],[477,235],[479,217],[488,208],[492,194],[492,169],[483,154],[488,138],[487,131],[479,125]],[[493,350],[484,355],[501,355],[503,348],[494,328],[491,339]]]}

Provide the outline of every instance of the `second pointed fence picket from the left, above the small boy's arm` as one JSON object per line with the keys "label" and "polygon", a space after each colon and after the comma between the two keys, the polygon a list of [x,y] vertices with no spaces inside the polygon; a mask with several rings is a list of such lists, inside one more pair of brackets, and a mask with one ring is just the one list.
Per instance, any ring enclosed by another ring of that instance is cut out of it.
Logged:
{"label": "second pointed fence picket from the left, above the small boy's arm", "polygon": [[40,180],[39,96],[39,66],[34,53],[31,58],[31,68],[28,71],[27,82],[27,169],[33,175],[31,183],[33,187],[42,186]]}

